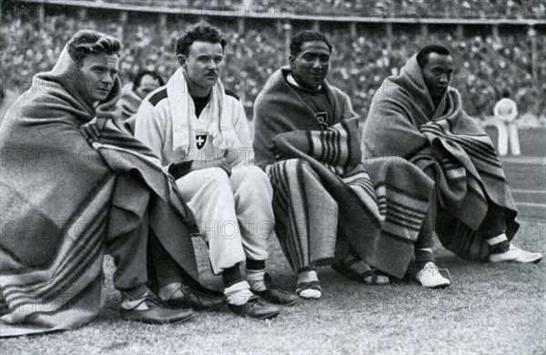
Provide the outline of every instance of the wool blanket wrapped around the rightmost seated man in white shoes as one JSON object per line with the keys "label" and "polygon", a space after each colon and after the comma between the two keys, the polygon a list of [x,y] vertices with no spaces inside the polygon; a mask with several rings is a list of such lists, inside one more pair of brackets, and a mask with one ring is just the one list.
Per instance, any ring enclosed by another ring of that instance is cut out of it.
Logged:
{"label": "wool blanket wrapped around the rightmost seated man in white shoes", "polygon": [[487,259],[480,225],[490,203],[504,209],[506,234],[514,236],[517,210],[490,137],[463,111],[457,89],[434,106],[416,56],[385,79],[360,127],[364,157],[404,157],[436,170],[440,210],[450,216],[437,223],[445,248]]}

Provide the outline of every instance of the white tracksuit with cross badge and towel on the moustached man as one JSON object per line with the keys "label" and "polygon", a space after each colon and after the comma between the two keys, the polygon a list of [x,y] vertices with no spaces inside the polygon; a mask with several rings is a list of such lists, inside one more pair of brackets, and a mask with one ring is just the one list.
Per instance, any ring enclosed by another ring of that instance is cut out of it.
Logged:
{"label": "white tracksuit with cross badge and towel on the moustached man", "polygon": [[[273,196],[268,176],[253,165],[247,117],[238,97],[218,81],[199,117],[179,69],[167,86],[147,96],[136,114],[135,136],[161,158],[164,167],[196,159],[235,155],[231,177],[220,167],[177,179],[187,205],[207,239],[215,274],[246,258],[268,258],[273,231]],[[173,124],[174,123],[174,124]]]}

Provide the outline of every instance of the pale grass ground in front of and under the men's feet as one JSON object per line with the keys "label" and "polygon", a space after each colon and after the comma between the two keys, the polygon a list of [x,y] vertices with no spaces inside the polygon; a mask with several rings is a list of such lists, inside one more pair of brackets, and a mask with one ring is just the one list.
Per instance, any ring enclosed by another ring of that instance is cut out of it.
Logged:
{"label": "pale grass ground in front of and under the men's feet", "polygon": [[[517,243],[546,252],[546,224],[523,222]],[[206,249],[194,240],[202,278],[219,289]],[[276,240],[269,269],[293,289],[295,277]],[[471,262],[437,248],[454,286],[423,289],[410,278],[370,287],[319,269],[324,296],[286,308],[275,320],[245,320],[222,309],[179,325],[118,320],[119,294],[106,260],[106,307],[90,325],[45,336],[5,339],[2,354],[34,353],[546,353],[546,269]]]}

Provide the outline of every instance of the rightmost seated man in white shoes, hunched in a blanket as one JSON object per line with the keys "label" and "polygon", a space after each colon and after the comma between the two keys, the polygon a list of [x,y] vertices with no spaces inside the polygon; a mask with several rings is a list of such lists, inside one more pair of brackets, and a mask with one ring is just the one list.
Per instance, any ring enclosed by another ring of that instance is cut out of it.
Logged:
{"label": "rightmost seated man in white shoes, hunched in a blanket", "polygon": [[510,188],[490,138],[448,86],[452,72],[450,51],[426,46],[399,76],[385,79],[360,124],[364,155],[403,157],[434,181],[436,203],[429,213],[446,249],[490,262],[538,262],[541,254],[510,243],[519,227]]}

